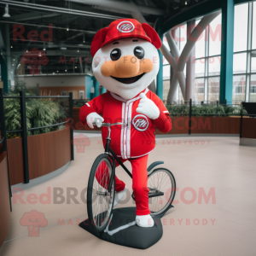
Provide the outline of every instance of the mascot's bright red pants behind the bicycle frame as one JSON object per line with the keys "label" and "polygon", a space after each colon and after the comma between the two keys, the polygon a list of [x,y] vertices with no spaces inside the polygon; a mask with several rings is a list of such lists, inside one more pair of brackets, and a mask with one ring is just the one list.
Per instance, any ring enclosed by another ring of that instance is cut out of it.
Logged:
{"label": "mascot's bright red pants behind the bicycle frame", "polygon": [[[123,163],[126,159],[119,158]],[[148,207],[148,154],[143,155],[138,158],[128,159],[131,162],[132,168],[132,189],[135,196],[136,202],[136,215],[148,215],[150,213]],[[119,163],[116,161],[116,167],[119,166]],[[99,170],[100,171],[100,170]],[[125,172],[125,171],[122,171]],[[98,172],[100,174],[101,172]],[[97,177],[97,174],[96,174]],[[108,177],[106,177],[108,179]],[[99,182],[99,179],[97,178]],[[102,182],[99,182],[102,183]],[[115,176],[115,191],[119,192],[125,189],[125,183],[119,180]]]}

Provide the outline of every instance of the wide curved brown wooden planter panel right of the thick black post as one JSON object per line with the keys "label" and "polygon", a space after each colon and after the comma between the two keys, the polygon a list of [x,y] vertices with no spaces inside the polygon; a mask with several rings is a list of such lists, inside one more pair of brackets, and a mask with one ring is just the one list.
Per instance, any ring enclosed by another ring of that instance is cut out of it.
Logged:
{"label": "wide curved brown wooden planter panel right of the thick black post", "polygon": [[29,178],[65,166],[71,159],[70,128],[27,137]]}

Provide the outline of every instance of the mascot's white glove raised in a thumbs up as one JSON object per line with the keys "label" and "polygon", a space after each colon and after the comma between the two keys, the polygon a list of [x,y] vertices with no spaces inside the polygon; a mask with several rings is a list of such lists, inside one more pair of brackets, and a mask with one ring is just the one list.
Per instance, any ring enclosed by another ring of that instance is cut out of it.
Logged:
{"label": "mascot's white glove raised in a thumbs up", "polygon": [[145,96],[144,93],[140,94],[141,100],[137,106],[137,113],[145,114],[149,119],[157,119],[160,116],[159,108]]}

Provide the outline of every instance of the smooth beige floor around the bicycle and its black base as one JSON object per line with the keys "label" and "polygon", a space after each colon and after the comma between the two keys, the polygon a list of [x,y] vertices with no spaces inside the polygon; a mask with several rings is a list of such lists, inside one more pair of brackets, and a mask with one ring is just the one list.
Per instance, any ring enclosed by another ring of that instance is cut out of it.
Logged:
{"label": "smooth beige floor around the bicycle and its black base", "polygon": [[[176,177],[178,191],[175,207],[162,218],[163,237],[142,251],[100,241],[78,226],[87,218],[83,189],[90,166],[103,152],[101,137],[88,139],[84,153],[74,147],[75,160],[66,172],[19,192],[20,197],[13,195],[12,224],[1,256],[255,254],[256,148],[239,146],[238,137],[157,138],[148,165],[164,160],[163,166]],[[131,178],[120,167],[117,174],[131,192]],[[208,203],[201,201],[202,193],[209,191]],[[75,202],[71,194],[78,194]],[[131,198],[119,205],[130,206],[134,206]],[[32,210],[44,213],[47,220],[38,236],[28,236],[28,227],[20,224],[24,213]]]}

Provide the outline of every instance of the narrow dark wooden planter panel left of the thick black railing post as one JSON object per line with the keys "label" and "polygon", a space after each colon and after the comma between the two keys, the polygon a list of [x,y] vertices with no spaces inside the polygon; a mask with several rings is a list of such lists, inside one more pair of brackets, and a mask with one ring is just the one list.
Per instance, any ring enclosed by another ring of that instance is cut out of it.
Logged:
{"label": "narrow dark wooden planter panel left of the thick black railing post", "polygon": [[7,150],[10,184],[24,183],[22,138],[8,139]]}

